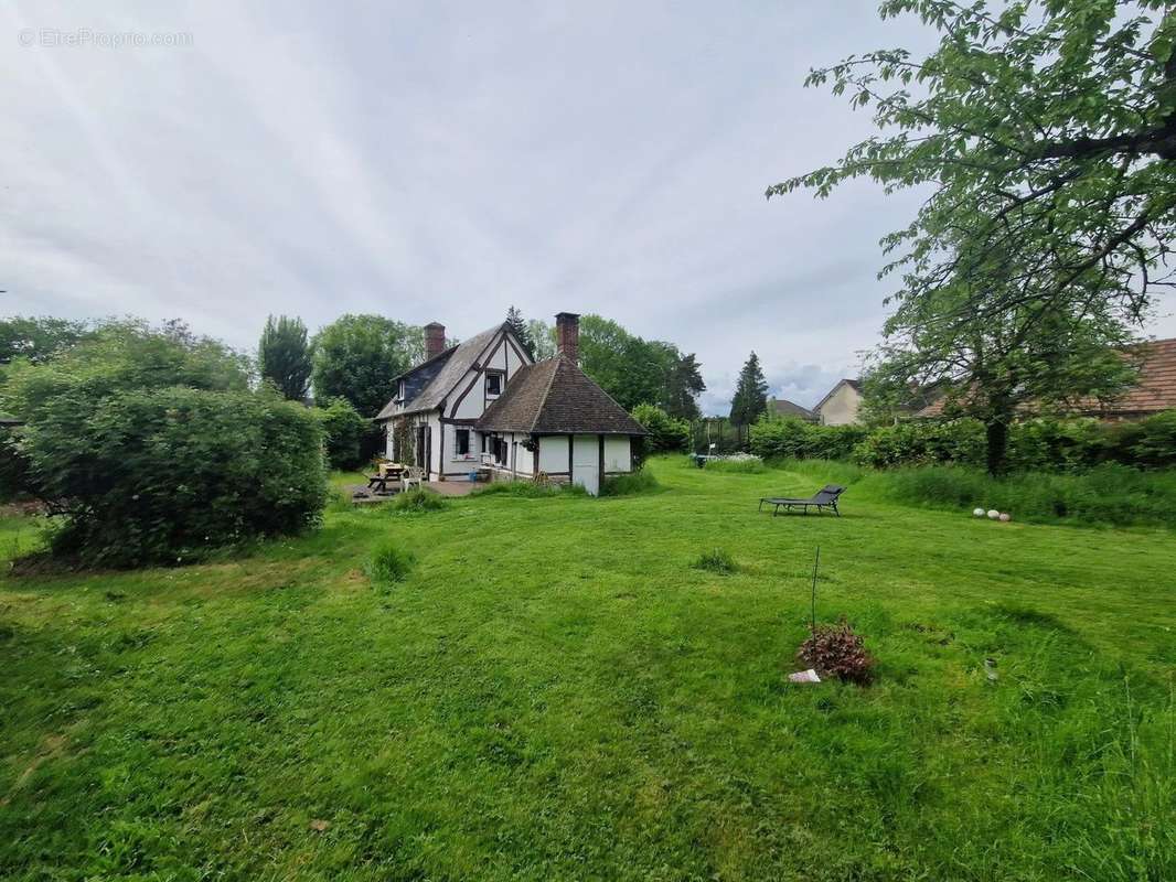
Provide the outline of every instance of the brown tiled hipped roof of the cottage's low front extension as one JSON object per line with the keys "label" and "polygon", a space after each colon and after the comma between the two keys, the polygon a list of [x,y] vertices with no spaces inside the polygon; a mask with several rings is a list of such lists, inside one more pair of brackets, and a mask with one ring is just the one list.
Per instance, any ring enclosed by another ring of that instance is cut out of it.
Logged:
{"label": "brown tiled hipped roof of the cottage's low front extension", "polygon": [[649,434],[579,366],[560,355],[520,368],[474,428],[535,434]]}

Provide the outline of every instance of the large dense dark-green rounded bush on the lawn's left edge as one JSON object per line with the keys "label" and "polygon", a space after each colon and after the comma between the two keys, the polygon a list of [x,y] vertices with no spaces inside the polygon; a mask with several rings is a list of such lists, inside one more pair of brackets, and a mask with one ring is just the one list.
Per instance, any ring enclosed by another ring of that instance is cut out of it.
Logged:
{"label": "large dense dark-green rounded bush on the lawn's left edge", "polygon": [[88,564],[179,562],[296,533],[327,500],[319,421],[270,394],[64,393],[20,447],[33,489],[66,515],[54,552]]}

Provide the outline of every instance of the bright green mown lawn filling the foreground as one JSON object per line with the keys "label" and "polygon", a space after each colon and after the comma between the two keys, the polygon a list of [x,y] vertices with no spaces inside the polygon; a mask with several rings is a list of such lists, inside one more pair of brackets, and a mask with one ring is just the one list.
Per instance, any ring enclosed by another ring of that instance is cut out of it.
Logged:
{"label": "bright green mown lawn filling the foreground", "polygon": [[[823,475],[652,468],[0,576],[0,877],[1176,878],[1170,532],[854,487],[773,519]],[[416,563],[379,589],[389,539]],[[869,688],[786,681],[818,543]],[[0,556],[34,544],[0,521]],[[739,572],[690,566],[715,547]]]}

